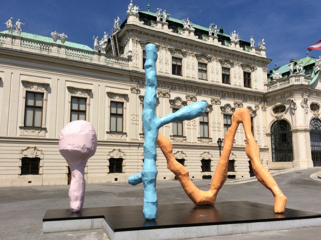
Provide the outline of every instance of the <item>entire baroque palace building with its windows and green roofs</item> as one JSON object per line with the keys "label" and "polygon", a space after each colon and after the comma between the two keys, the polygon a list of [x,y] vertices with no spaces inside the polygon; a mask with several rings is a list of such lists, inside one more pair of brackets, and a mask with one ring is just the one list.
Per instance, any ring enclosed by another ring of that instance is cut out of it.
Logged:
{"label": "entire baroque palace building with its windows and green roofs", "polygon": [[[58,139],[61,129],[77,119],[91,122],[98,137],[96,154],[85,169],[87,183],[126,182],[140,172],[143,49],[148,43],[158,49],[157,115],[196,101],[208,103],[202,117],[160,129],[191,179],[213,175],[220,154],[217,140],[241,107],[250,110],[266,168],[319,165],[318,61],[292,59],[303,67],[292,75],[288,65],[268,72],[265,48],[232,37],[222,28],[209,36],[207,28],[170,17],[157,21],[154,13],[143,11],[127,13],[101,51],[65,38],[0,32],[0,186],[68,184],[70,172]],[[230,178],[251,176],[245,139],[240,125]],[[160,149],[156,165],[158,180],[174,180]]]}

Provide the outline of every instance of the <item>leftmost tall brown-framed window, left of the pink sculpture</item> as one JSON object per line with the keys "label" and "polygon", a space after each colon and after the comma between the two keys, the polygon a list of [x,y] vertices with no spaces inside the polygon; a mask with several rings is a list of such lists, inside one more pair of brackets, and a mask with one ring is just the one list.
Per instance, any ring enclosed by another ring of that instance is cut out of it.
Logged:
{"label": "leftmost tall brown-framed window, left of the pink sculpture", "polygon": [[42,109],[43,93],[26,92],[24,126],[41,127]]}

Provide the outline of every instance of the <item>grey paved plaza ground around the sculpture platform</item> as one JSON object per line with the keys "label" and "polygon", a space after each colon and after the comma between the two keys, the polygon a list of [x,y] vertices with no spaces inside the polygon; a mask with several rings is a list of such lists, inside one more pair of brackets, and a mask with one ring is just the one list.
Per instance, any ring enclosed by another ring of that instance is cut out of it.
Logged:
{"label": "grey paved plaza ground around the sculpture platform", "polygon": [[[287,208],[321,213],[321,182],[311,179],[321,169],[305,169],[274,176],[288,197]],[[230,180],[228,180],[230,181]],[[202,190],[208,190],[211,180],[194,181]],[[227,182],[228,183],[228,182]],[[109,239],[102,229],[42,233],[42,218],[47,209],[68,209],[69,186],[36,186],[0,188],[0,239]],[[189,198],[178,181],[157,182],[159,203],[188,203]],[[253,201],[273,205],[273,196],[259,182],[225,184],[218,194],[221,201]],[[127,183],[88,184],[84,208],[141,205],[143,186]],[[142,215],[143,218],[143,215]],[[215,239],[319,239],[321,227],[264,233],[218,236]],[[202,240],[214,237],[199,238]]]}

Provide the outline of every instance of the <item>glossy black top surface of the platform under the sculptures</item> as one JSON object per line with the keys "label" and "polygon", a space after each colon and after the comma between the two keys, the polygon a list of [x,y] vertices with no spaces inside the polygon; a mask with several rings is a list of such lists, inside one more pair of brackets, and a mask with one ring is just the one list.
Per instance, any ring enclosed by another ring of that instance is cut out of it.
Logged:
{"label": "glossy black top surface of the platform under the sculptures", "polygon": [[321,218],[321,214],[294,209],[275,214],[273,206],[249,201],[217,202],[206,206],[195,206],[193,203],[159,204],[157,218],[152,221],[145,220],[142,211],[141,205],[84,208],[79,213],[56,209],[47,210],[43,221],[104,218],[114,232],[122,232]]}

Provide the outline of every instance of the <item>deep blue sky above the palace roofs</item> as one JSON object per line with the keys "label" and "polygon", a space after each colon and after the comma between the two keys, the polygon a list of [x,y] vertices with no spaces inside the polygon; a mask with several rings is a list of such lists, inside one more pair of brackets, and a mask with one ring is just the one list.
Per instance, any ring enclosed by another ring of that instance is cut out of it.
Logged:
{"label": "deep blue sky above the palace roofs", "polygon": [[[140,10],[165,9],[171,17],[187,18],[198,25],[208,27],[214,22],[226,33],[236,31],[242,40],[249,41],[253,35],[255,44],[265,39],[266,56],[272,59],[269,69],[287,64],[291,58],[304,58],[307,47],[321,39],[321,4],[310,0],[134,0]],[[52,31],[65,32],[68,40],[93,48],[93,36],[110,32],[114,19],[126,18],[129,0],[2,0],[1,21],[10,17],[28,24],[23,31],[49,36]],[[6,30],[0,25],[0,31]],[[317,58],[321,51],[312,50],[309,56]]]}

